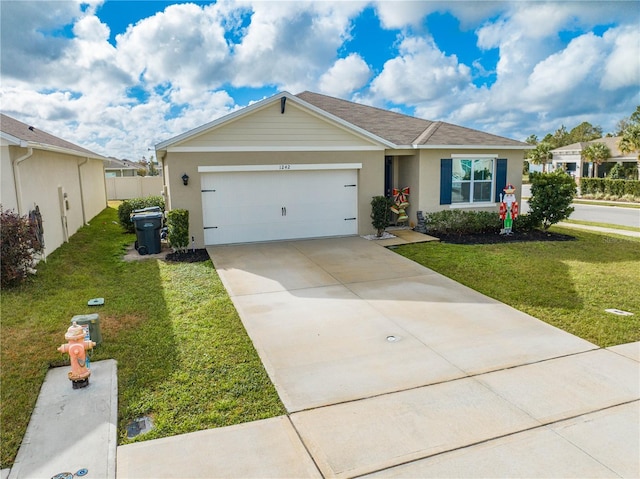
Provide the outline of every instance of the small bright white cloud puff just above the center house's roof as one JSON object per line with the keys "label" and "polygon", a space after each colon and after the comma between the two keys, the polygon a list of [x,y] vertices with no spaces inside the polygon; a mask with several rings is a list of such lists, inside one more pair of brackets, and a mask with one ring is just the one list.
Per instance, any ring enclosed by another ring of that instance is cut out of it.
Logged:
{"label": "small bright white cloud puff just above the center house's roof", "polygon": [[320,77],[318,86],[322,93],[331,96],[347,97],[350,93],[362,88],[371,70],[357,53],[336,60],[331,68]]}

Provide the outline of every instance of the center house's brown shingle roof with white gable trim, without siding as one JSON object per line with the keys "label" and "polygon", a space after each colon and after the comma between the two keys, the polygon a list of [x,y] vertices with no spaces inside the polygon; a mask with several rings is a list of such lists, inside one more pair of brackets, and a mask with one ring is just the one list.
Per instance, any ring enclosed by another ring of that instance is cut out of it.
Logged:
{"label": "center house's brown shingle roof with white gable trim, without siding", "polygon": [[210,128],[227,121],[248,115],[266,104],[288,98],[332,121],[338,121],[345,127],[365,134],[375,142],[388,148],[469,148],[492,147],[497,149],[531,149],[533,146],[502,136],[492,135],[478,130],[445,123],[415,118],[381,108],[353,103],[319,93],[305,91],[297,95],[282,92],[271,98],[254,103],[210,123],[187,131],[156,145],[157,150],[179,144]]}

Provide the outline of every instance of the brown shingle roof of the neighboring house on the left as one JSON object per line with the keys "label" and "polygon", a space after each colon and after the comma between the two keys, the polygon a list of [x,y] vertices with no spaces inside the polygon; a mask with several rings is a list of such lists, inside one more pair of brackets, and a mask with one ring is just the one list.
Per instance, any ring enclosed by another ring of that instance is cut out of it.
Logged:
{"label": "brown shingle roof of the neighboring house on the left", "polygon": [[2,138],[23,148],[37,148],[49,151],[60,151],[76,156],[90,157],[95,159],[104,159],[103,156],[94,153],[91,150],[82,148],[69,141],[53,136],[50,133],[39,130],[26,123],[11,118],[0,113],[0,133]]}

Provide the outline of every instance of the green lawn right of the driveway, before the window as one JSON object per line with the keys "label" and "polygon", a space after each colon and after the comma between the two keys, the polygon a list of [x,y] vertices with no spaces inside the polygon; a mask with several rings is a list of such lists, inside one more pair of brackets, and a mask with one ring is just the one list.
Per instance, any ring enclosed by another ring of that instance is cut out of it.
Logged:
{"label": "green lawn right of the driveway, before the window", "polygon": [[[422,243],[396,252],[601,347],[640,340],[640,240],[553,227],[576,241]],[[617,308],[633,316],[617,316]]]}

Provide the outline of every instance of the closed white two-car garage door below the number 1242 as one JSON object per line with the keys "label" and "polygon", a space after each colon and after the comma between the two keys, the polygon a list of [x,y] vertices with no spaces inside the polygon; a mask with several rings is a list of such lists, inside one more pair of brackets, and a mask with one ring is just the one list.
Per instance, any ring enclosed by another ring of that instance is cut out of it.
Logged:
{"label": "closed white two-car garage door below the number 1242", "polygon": [[202,172],[205,244],[357,234],[357,177],[356,169]]}

